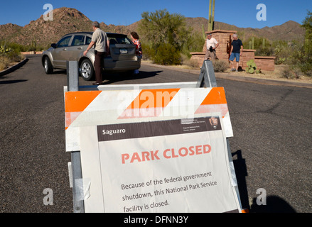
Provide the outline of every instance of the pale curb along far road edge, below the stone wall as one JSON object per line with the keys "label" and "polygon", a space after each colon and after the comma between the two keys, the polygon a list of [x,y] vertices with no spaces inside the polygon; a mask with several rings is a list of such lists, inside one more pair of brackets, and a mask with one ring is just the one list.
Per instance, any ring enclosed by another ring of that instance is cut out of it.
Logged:
{"label": "pale curb along far road edge, below the stone wall", "polygon": [[[147,65],[151,67],[158,67],[168,70],[175,70],[178,72],[187,72],[192,74],[200,74],[200,70],[186,70],[186,69],[179,69],[172,66],[167,65],[156,65],[148,62],[141,62],[142,65]],[[267,85],[274,85],[274,86],[286,86],[286,87],[303,87],[303,88],[310,88],[312,89],[312,84],[306,84],[301,82],[291,82],[291,81],[284,81],[284,80],[276,80],[276,79],[260,79],[260,78],[254,78],[254,77],[240,77],[236,75],[231,74],[222,74],[220,72],[215,73],[216,78],[220,79],[230,79],[234,81],[240,81],[240,82],[247,82],[247,83],[254,83],[254,84],[267,84]]]}

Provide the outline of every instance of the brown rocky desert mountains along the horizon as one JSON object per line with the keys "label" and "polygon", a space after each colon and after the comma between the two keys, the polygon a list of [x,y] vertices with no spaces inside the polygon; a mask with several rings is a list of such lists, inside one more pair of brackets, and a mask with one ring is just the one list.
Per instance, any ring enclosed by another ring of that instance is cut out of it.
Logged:
{"label": "brown rocky desert mountains along the horizon", "polygon": [[[193,33],[202,33],[202,26],[207,31],[208,20],[206,18],[186,18],[188,26],[193,28]],[[45,21],[43,15],[36,21],[31,21],[26,26],[17,26],[12,23],[0,25],[0,40],[19,43],[21,45],[34,45],[47,47],[50,43],[57,42],[66,33],[78,31],[92,31],[92,21],[83,13],[71,8],[59,8],[53,10],[53,21]],[[101,28],[107,32],[129,34],[136,31],[139,21],[129,26],[107,25],[100,23]],[[258,28],[237,28],[227,23],[215,22],[216,30],[235,30],[244,38],[251,35],[265,37],[269,40],[303,40],[304,30],[300,24],[288,21],[281,26]]]}

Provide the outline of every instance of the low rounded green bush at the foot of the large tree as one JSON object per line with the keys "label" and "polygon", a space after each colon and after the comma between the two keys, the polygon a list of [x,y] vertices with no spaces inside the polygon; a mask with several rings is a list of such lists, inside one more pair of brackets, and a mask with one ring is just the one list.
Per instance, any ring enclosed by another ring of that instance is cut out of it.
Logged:
{"label": "low rounded green bush at the foot of the large tree", "polygon": [[156,54],[152,60],[159,65],[180,65],[181,52],[176,50],[173,45],[163,43],[156,49]]}

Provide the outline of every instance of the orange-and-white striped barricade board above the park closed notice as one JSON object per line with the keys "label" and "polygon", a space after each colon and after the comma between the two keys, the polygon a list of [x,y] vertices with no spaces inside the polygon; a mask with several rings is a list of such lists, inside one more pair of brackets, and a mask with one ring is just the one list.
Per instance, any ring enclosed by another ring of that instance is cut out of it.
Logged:
{"label": "orange-and-white striped barricade board above the park closed notice", "polygon": [[80,127],[141,122],[146,118],[193,118],[220,113],[227,138],[233,136],[222,87],[65,92],[66,151],[80,150]]}

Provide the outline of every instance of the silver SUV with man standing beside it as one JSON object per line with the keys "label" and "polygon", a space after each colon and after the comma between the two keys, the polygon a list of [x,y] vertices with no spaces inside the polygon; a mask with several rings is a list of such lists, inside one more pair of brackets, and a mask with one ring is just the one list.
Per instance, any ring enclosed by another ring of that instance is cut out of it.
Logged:
{"label": "silver SUV with man standing beside it", "polygon": [[[107,33],[109,52],[104,58],[104,70],[109,72],[133,72],[141,67],[141,59],[136,56],[136,45],[127,35]],[[95,51],[92,48],[83,52],[91,43],[92,32],[70,33],[64,35],[58,43],[51,44],[42,55],[42,65],[46,74],[53,73],[54,69],[66,69],[67,61],[77,61],[83,79],[94,79]]]}

